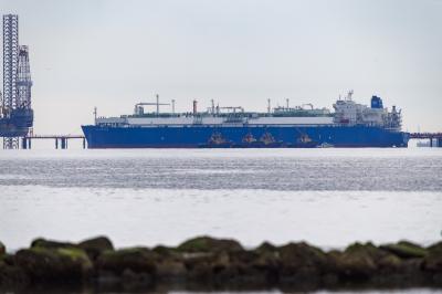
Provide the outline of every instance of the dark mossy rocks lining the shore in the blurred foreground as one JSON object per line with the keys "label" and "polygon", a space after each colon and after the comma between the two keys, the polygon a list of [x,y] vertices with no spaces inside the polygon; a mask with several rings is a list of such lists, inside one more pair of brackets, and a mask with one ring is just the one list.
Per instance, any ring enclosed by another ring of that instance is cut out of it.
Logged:
{"label": "dark mossy rocks lining the shore in the blurred foreground", "polygon": [[80,243],[36,239],[7,253],[0,242],[0,288],[94,287],[147,290],[442,288],[442,241],[428,248],[401,241],[354,243],[325,252],[305,242],[244,249],[199,237],[176,248],[115,249],[97,237]]}

